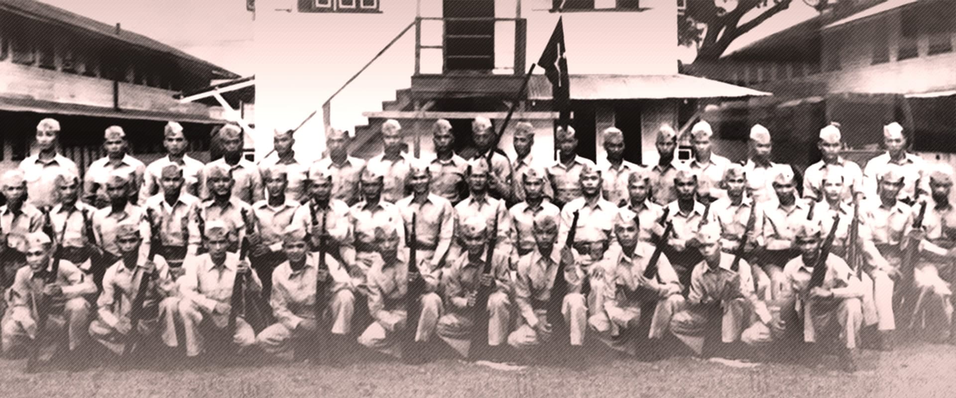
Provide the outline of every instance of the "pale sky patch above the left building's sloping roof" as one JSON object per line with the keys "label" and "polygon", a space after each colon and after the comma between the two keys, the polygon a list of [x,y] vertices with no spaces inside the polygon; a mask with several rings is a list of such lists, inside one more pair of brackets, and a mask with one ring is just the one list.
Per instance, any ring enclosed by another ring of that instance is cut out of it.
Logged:
{"label": "pale sky patch above the left building's sloping roof", "polygon": [[255,73],[245,0],[41,0],[159,40],[234,73]]}

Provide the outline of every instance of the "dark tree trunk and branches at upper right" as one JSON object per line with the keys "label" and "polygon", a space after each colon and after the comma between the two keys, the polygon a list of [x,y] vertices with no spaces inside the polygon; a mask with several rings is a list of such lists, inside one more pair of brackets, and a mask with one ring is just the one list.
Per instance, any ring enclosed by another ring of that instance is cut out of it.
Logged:
{"label": "dark tree trunk and branches at upper right", "polygon": [[[825,3],[821,0],[819,2]],[[725,6],[718,3],[724,3]],[[732,3],[727,0],[685,2],[686,10],[678,15],[678,42],[683,46],[689,46],[691,43],[697,45],[694,62],[717,60],[737,37],[756,28],[778,12],[787,10],[793,0],[738,0],[736,7],[730,7]],[[747,22],[742,22],[744,15],[756,9],[766,10],[762,10]]]}

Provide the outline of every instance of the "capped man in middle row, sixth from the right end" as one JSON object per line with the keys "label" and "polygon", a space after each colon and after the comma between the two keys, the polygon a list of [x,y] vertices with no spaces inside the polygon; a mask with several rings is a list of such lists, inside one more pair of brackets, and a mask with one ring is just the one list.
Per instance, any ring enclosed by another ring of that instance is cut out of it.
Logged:
{"label": "capped man in middle row, sixth from the right end", "polygon": [[674,176],[674,189],[677,199],[667,204],[668,217],[674,224],[667,239],[664,254],[674,266],[674,271],[684,286],[690,287],[690,276],[695,264],[701,262],[701,253],[693,246],[697,243],[694,236],[701,226],[714,222],[710,209],[696,199],[697,174],[681,169]]}

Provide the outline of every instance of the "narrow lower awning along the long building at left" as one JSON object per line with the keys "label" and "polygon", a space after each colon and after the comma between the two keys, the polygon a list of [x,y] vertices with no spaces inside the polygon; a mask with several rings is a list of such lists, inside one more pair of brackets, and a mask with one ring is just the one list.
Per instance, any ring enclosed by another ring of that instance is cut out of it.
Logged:
{"label": "narrow lower awning along the long building at left", "polygon": [[115,110],[91,105],[68,104],[33,98],[0,97],[0,111],[33,112],[50,115],[81,115],[90,117],[113,117],[121,119],[176,120],[186,123],[222,124],[226,120],[212,118],[209,115],[181,114],[175,112],[140,111],[132,109]]}

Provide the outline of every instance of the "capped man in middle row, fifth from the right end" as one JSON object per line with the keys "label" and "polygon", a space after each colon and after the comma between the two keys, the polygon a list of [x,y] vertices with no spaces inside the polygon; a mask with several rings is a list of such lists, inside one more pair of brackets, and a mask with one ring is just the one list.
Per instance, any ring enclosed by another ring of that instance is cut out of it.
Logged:
{"label": "capped man in middle row, fifth from the right end", "polygon": [[[747,245],[744,247],[744,258],[751,266],[751,275],[757,281],[756,293],[758,297],[769,298],[770,278],[756,261],[756,257],[763,249],[761,232],[763,231],[763,207],[756,199],[745,195],[750,175],[744,172],[739,164],[730,164],[724,170],[721,180],[721,189],[727,192],[727,197],[717,199],[710,205],[710,211],[721,226],[721,250],[735,255],[744,242],[747,233]],[[751,222],[752,220],[752,222]],[[750,231],[747,230],[750,226]]]}

